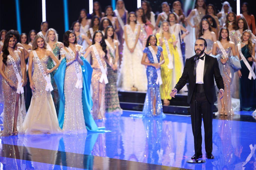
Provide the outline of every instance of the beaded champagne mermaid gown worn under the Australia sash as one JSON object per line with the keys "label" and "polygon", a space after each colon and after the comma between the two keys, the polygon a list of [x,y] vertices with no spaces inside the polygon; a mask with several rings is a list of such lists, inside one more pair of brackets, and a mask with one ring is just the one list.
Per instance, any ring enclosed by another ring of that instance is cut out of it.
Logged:
{"label": "beaded champagne mermaid gown worn under the Australia sash", "polygon": [[[40,59],[44,70],[47,69],[48,60],[49,56]],[[46,80],[38,68],[35,57],[33,63],[32,80],[35,90],[32,90],[33,96],[23,122],[25,134],[61,133],[51,92],[45,90]]]}

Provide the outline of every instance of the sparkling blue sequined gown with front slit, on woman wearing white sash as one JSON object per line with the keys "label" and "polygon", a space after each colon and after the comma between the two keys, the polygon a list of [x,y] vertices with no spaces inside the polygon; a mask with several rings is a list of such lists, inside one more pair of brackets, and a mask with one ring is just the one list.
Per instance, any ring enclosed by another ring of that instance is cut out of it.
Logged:
{"label": "sparkling blue sequined gown with front slit, on woman wearing white sash", "polygon": [[[161,52],[163,48],[161,46],[157,47],[156,57],[158,62],[160,61]],[[146,47],[143,50],[143,53],[147,54],[148,60],[150,63],[154,63],[154,58],[151,51]],[[165,116],[163,113],[163,106],[160,96],[159,84],[156,84],[157,73],[156,68],[153,66],[147,66],[147,94],[144,102],[144,107],[142,114],[145,117],[154,117],[154,116]],[[154,114],[154,104],[155,104],[155,114]]]}

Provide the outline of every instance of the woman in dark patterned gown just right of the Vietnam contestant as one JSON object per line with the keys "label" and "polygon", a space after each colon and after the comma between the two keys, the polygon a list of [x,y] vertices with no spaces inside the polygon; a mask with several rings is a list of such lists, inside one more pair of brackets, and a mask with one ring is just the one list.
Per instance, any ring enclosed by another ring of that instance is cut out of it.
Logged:
{"label": "woman in dark patterned gown just right of the Vietnam contestant", "polygon": [[105,31],[105,42],[107,45],[107,57],[108,60],[107,68],[108,68],[108,81],[105,88],[105,105],[106,112],[116,112],[121,111],[119,104],[118,91],[116,87],[117,82],[117,69],[118,69],[118,59],[119,59],[119,51],[118,51],[118,41],[114,40],[114,28],[112,26],[108,26]]}

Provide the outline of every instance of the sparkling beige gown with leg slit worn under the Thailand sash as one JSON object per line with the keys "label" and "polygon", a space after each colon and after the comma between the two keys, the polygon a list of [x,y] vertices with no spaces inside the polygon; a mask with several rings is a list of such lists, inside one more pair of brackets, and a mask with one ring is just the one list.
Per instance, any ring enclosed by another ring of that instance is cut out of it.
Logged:
{"label": "sparkling beige gown with leg slit worn under the Thailand sash", "polygon": [[[15,53],[12,57],[15,60],[15,63],[21,75],[20,58],[18,53]],[[1,136],[9,136],[9,135],[12,135],[13,133],[14,111],[15,111],[17,85],[18,85],[18,79],[14,72],[11,60],[7,58],[6,63],[7,64],[5,66],[4,74],[7,76],[8,79],[10,79],[16,85],[16,87],[13,88],[4,79],[2,80],[3,91],[4,91],[4,122],[3,122],[4,130],[1,133]],[[19,111],[18,111],[18,119],[17,119],[17,130],[19,134],[21,134],[24,132],[22,123],[26,115],[25,100],[24,100],[23,94],[20,95],[18,103],[19,103],[18,104]]]}

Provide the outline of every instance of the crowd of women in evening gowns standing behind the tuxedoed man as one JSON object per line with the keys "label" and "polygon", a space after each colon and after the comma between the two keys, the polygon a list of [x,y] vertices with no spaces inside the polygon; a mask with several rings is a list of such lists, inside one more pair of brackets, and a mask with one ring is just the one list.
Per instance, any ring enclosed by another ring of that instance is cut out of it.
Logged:
{"label": "crowd of women in evening gowns standing behind the tuxedoed man", "polygon": [[94,120],[122,111],[118,88],[145,91],[142,116],[164,117],[162,105],[169,105],[198,37],[207,42],[205,53],[218,59],[225,83],[219,114],[233,114],[232,98],[239,98],[241,110],[255,110],[255,19],[248,3],[239,16],[227,1],[217,14],[214,5],[197,0],[187,17],[179,1],[161,7],[155,16],[148,1],[134,12],[123,0],[104,12],[94,2],[92,14],[80,10],[63,42],[47,21],[38,33],[2,30],[0,103],[8,127],[2,135],[102,131]]}

